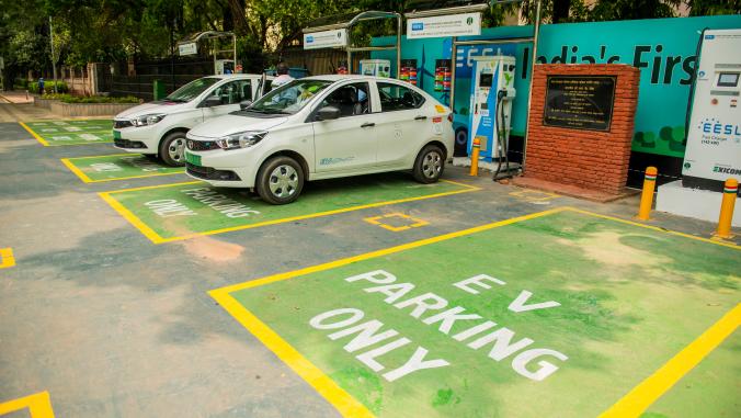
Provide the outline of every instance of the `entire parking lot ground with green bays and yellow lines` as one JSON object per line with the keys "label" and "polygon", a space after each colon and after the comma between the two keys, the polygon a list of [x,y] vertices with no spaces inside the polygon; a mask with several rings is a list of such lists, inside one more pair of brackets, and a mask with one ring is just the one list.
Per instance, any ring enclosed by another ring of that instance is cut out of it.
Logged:
{"label": "entire parking lot ground with green bays and yellow lines", "polygon": [[740,410],[713,225],[449,166],[273,206],[105,148],[0,125],[3,418]]}

